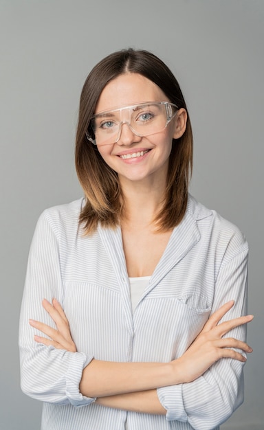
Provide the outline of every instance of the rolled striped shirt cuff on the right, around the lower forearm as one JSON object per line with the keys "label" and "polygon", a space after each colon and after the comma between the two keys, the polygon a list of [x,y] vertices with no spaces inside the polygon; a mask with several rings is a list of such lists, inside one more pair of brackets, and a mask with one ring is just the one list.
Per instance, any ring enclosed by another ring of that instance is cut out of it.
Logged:
{"label": "rolled striped shirt cuff on the right, around the lower forearm", "polygon": [[184,400],[182,396],[182,384],[157,388],[157,396],[159,402],[167,411],[167,421],[177,420],[187,422],[187,414],[184,409]]}

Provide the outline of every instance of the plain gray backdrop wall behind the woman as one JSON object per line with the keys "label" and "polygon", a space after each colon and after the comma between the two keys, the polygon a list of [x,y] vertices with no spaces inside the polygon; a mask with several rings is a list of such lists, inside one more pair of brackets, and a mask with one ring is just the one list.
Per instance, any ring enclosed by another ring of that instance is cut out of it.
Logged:
{"label": "plain gray backdrop wall behind the woman", "polygon": [[264,429],[264,1],[0,0],[0,33],[0,429],[40,428],[41,404],[19,388],[30,241],[45,207],[82,195],[74,171],[80,90],[98,60],[129,46],[151,50],[179,79],[195,135],[192,194],[250,242],[254,353],[245,403],[222,429]]}

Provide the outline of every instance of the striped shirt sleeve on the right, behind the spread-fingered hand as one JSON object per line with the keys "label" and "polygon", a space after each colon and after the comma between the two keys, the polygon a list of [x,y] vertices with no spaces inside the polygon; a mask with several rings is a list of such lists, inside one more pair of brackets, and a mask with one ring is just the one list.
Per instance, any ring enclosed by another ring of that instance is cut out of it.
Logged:
{"label": "striped shirt sleeve on the right, behind the spread-fingered hand", "polygon": [[[235,244],[229,244],[215,283],[212,313],[230,299],[235,301],[221,321],[247,313],[248,244],[241,236],[233,240]],[[225,337],[245,341],[246,325],[234,328]],[[188,422],[197,430],[221,425],[243,403],[243,365],[234,359],[221,359],[192,383],[157,389],[167,411],[166,419]]]}

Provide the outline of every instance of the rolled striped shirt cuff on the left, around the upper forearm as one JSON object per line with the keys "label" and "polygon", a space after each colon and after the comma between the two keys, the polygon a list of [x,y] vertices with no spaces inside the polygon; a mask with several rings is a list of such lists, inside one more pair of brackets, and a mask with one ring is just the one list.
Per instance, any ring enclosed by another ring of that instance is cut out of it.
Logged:
{"label": "rolled striped shirt cuff on the left, around the upper forearm", "polygon": [[83,375],[83,369],[94,357],[87,357],[82,352],[75,352],[69,361],[66,374],[66,396],[74,407],[89,405],[96,401],[95,397],[86,397],[80,393],[79,384]]}

